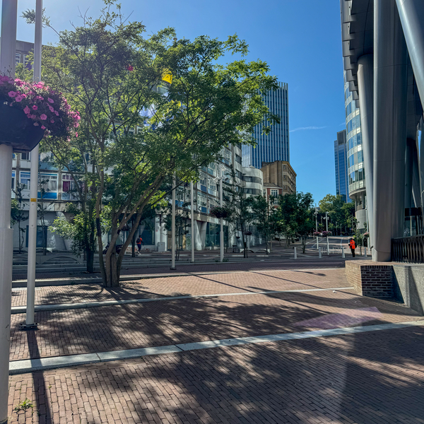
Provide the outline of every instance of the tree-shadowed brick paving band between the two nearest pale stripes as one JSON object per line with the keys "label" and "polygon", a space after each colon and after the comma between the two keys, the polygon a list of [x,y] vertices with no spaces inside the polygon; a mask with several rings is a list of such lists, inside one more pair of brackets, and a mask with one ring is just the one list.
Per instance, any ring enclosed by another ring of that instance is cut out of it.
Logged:
{"label": "tree-shadowed brick paving band between the two nearest pale stripes", "polygon": [[[348,290],[37,312],[37,331],[19,331],[25,315],[15,314],[11,322],[11,360],[358,325],[350,318],[355,313],[352,310],[360,313],[358,309],[370,307],[375,312],[364,320],[365,324],[420,319],[402,305],[361,298]],[[305,322],[308,319],[321,320]]]}

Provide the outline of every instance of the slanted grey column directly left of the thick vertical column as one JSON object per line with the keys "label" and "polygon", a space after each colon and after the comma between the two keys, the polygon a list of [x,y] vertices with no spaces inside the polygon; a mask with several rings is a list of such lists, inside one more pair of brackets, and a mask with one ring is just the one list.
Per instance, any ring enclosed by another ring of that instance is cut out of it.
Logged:
{"label": "slanted grey column directly left of the thick vertical column", "polygon": [[367,193],[368,225],[370,245],[374,246],[374,56],[365,54],[358,59],[358,92],[360,108],[360,128],[362,133],[365,189]]}

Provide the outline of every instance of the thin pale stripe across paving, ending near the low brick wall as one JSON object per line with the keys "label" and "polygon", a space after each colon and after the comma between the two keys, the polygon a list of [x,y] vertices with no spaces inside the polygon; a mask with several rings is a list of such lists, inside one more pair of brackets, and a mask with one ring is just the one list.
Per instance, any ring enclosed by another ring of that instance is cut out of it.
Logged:
{"label": "thin pale stripe across paving, ending near the low brick wall", "polygon": [[[128,305],[130,303],[160,302],[163,300],[220,298],[221,296],[271,295],[275,293],[302,293],[302,292],[327,291],[327,290],[353,290],[353,287],[302,288],[298,290],[266,290],[266,291],[259,291],[259,292],[248,291],[248,292],[240,292],[240,293],[218,293],[218,294],[212,294],[212,295],[163,296],[162,298],[103,300],[101,302],[59,303],[59,304],[52,304],[52,305],[36,305],[35,312],[84,309],[86,307]],[[25,312],[26,312],[26,306],[13,306],[11,308],[11,314],[24,314]]]}

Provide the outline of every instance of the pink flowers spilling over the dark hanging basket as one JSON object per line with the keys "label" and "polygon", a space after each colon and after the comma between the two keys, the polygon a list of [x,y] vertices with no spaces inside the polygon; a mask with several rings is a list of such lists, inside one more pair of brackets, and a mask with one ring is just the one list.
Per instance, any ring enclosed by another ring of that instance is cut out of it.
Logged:
{"label": "pink flowers spilling over the dark hanging basket", "polygon": [[0,104],[20,109],[45,136],[68,139],[76,134],[81,117],[71,110],[66,99],[45,83],[28,83],[0,76]]}

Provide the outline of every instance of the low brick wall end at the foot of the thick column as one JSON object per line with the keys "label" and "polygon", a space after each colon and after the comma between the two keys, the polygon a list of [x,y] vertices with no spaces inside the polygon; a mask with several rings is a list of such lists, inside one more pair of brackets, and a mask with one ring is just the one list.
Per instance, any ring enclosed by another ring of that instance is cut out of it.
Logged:
{"label": "low brick wall end at the foot of the thick column", "polygon": [[368,298],[393,298],[393,266],[384,262],[346,261],[346,278]]}

